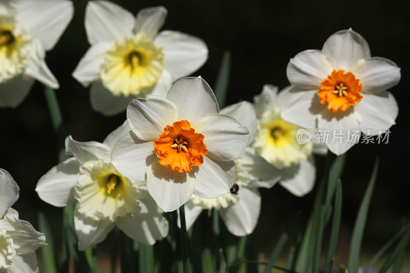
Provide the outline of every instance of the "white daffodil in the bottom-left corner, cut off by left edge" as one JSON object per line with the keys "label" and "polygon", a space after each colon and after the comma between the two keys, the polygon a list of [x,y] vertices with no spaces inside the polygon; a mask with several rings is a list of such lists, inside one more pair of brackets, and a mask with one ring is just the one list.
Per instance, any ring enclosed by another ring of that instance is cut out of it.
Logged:
{"label": "white daffodil in the bottom-left corner, cut off by left edge", "polygon": [[46,245],[44,234],[18,219],[11,206],[18,199],[19,188],[11,175],[0,169],[0,272],[38,272],[35,250]]}

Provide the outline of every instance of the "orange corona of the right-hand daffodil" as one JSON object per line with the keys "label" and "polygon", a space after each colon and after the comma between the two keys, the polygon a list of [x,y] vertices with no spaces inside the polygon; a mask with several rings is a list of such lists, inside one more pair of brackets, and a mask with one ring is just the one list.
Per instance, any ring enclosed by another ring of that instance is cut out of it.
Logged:
{"label": "orange corona of the right-hand daffodil", "polygon": [[355,75],[351,72],[344,73],[344,70],[333,70],[320,83],[318,96],[320,103],[327,102],[327,109],[332,112],[345,111],[362,99],[361,91],[362,85]]}

